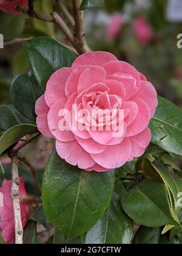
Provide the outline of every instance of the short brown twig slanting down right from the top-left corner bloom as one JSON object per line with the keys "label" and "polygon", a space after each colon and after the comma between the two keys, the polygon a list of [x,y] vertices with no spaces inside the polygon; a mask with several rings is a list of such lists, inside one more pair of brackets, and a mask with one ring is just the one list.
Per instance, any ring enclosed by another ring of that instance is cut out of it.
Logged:
{"label": "short brown twig slanting down right from the top-left corner bloom", "polygon": [[27,16],[30,16],[32,18],[36,18],[38,20],[42,20],[42,21],[47,21],[47,22],[54,22],[54,18],[51,14],[46,14],[46,13],[40,13],[40,12],[29,12],[29,7],[24,6],[24,5],[20,5],[19,3],[17,3],[15,5],[15,9],[18,10],[18,12],[22,12]]}

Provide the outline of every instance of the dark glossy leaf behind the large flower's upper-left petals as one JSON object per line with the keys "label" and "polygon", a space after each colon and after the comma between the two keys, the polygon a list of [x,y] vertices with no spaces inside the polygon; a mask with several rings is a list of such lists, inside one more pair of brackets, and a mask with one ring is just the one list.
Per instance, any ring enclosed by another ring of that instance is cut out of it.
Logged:
{"label": "dark glossy leaf behind the large flower's upper-left petals", "polygon": [[47,80],[56,70],[71,66],[76,59],[69,49],[50,37],[39,37],[26,41],[24,48],[30,68],[42,90],[45,90]]}

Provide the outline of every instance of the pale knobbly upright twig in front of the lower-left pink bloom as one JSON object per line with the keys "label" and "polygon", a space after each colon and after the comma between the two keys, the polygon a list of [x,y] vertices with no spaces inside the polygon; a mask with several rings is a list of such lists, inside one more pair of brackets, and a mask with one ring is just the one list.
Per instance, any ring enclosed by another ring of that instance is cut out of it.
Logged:
{"label": "pale knobbly upright twig in front of the lower-left pink bloom", "polygon": [[18,177],[18,157],[16,152],[9,152],[9,157],[12,159],[12,201],[13,212],[15,219],[15,243],[22,244],[23,228],[21,221],[21,208],[19,202],[19,177]]}

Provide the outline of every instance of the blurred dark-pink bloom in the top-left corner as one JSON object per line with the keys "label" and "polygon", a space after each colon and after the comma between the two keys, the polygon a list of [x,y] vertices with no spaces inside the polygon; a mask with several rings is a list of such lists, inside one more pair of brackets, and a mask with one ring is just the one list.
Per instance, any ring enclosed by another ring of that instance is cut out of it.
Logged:
{"label": "blurred dark-pink bloom in the top-left corner", "polygon": [[18,15],[19,12],[15,9],[15,5],[17,2],[21,5],[29,4],[29,0],[0,0],[0,10],[2,10],[2,12]]}

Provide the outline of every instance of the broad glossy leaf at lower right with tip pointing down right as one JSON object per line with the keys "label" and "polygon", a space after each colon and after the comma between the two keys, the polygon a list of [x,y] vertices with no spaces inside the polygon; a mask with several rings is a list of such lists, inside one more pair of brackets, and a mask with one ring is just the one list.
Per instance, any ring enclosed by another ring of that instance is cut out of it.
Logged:
{"label": "broad glossy leaf at lower right with tip pointing down right", "polygon": [[127,192],[121,200],[124,211],[134,221],[147,227],[177,225],[170,212],[166,186],[157,180],[146,180]]}

